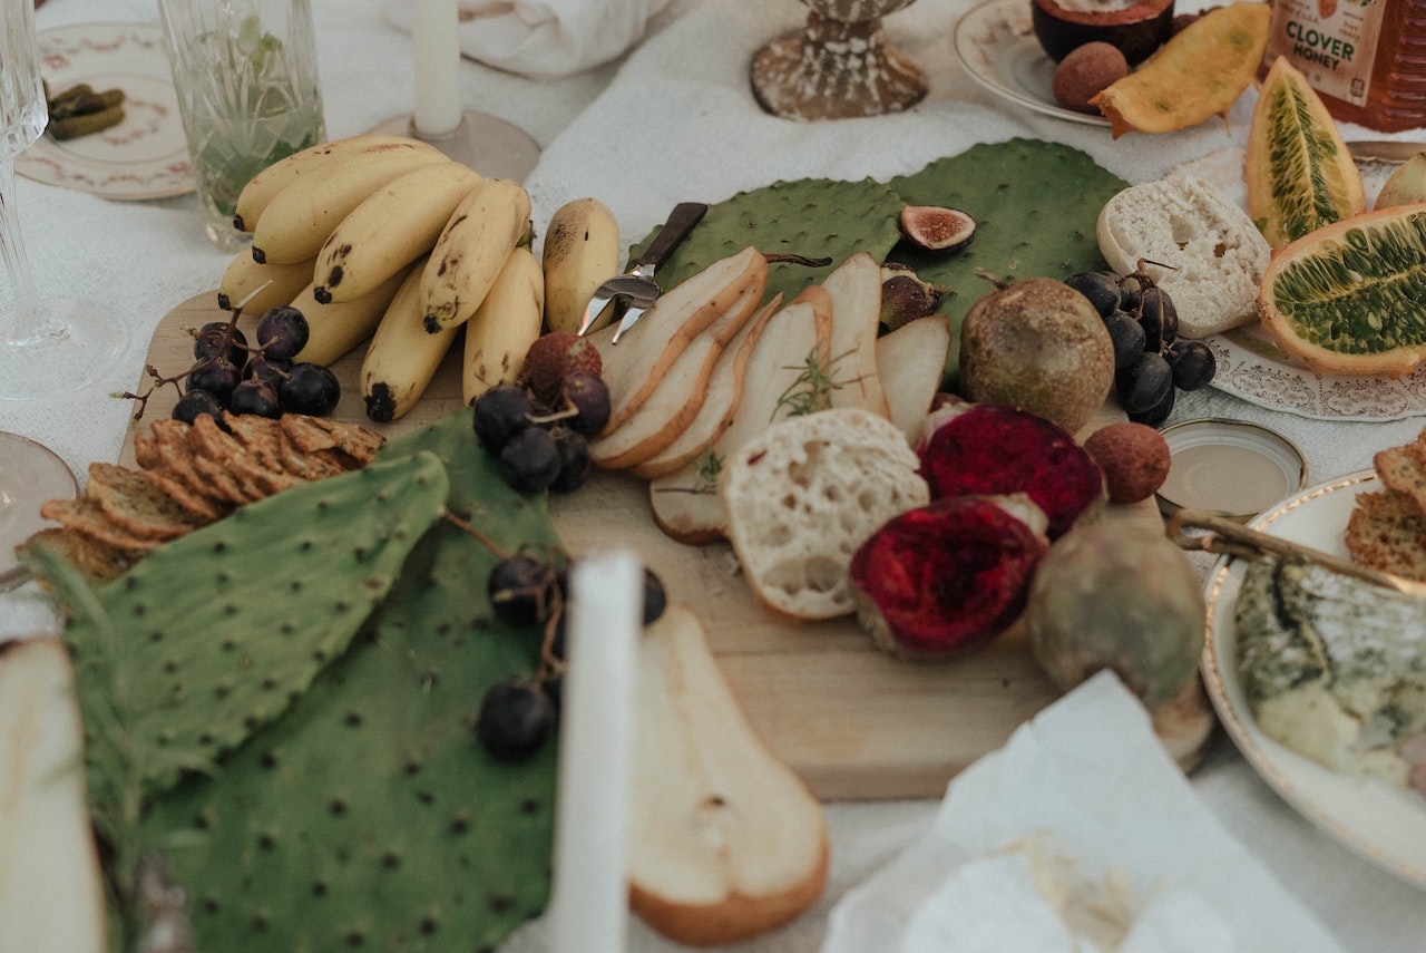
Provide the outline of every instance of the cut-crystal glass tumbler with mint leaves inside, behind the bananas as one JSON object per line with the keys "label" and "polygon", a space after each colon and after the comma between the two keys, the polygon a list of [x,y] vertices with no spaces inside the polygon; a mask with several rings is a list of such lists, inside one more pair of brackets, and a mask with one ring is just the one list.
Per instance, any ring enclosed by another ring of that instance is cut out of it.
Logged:
{"label": "cut-crystal glass tumbler with mint leaves inside, behind the bananas", "polygon": [[255,174],[325,138],[308,0],[158,0],[204,231],[224,251]]}

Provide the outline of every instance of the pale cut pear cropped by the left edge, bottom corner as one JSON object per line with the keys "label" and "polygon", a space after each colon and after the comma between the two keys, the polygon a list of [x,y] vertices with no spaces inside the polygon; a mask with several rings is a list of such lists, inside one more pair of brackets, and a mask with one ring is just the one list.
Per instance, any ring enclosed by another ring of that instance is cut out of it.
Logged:
{"label": "pale cut pear cropped by the left edge, bottom corner", "polygon": [[0,953],[101,953],[84,732],[57,639],[0,645]]}

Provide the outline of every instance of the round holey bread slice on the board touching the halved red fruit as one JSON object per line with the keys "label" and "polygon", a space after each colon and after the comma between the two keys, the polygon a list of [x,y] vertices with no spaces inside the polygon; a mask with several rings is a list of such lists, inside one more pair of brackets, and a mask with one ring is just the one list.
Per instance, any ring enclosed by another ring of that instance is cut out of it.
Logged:
{"label": "round holey bread slice on the board touching the halved red fruit", "polygon": [[757,598],[801,619],[853,612],[853,554],[930,499],[918,464],[896,424],[854,407],[790,417],[740,447],[719,496]]}

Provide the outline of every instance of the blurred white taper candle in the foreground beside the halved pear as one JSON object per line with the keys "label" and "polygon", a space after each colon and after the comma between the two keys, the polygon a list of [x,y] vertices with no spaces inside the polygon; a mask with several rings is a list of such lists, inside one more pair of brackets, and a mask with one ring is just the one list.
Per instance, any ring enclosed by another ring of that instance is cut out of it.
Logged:
{"label": "blurred white taper candle in the foreground beside the halved pear", "polygon": [[575,564],[569,595],[550,896],[553,949],[622,953],[629,929],[629,793],[643,565],[627,551],[589,555]]}

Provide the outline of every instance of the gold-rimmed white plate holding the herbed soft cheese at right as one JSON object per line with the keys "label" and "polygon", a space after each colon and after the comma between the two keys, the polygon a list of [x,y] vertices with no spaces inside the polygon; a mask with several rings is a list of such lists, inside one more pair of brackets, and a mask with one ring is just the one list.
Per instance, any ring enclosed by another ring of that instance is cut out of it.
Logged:
{"label": "gold-rimmed white plate holding the herbed soft cheese at right", "polygon": [[[1255,519],[1252,528],[1345,556],[1342,531],[1356,496],[1375,489],[1370,471],[1318,484]],[[1233,605],[1242,575],[1241,561],[1219,559],[1208,576],[1204,681],[1229,736],[1299,813],[1368,860],[1426,887],[1426,797],[1335,773],[1258,730],[1235,662]]]}

